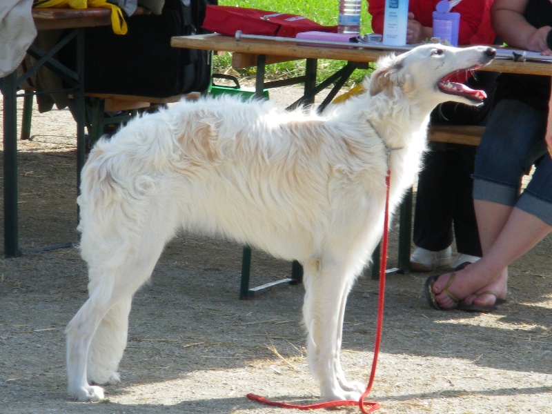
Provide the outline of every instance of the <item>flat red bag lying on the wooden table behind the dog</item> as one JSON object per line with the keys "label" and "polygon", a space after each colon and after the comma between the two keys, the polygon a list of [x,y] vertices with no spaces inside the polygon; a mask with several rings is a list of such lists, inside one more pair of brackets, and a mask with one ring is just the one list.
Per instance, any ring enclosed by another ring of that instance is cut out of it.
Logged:
{"label": "flat red bag lying on the wooden table behind the dog", "polygon": [[295,37],[300,32],[337,32],[337,26],[322,26],[297,14],[267,12],[233,6],[207,6],[203,26],[206,30],[234,36],[243,34]]}

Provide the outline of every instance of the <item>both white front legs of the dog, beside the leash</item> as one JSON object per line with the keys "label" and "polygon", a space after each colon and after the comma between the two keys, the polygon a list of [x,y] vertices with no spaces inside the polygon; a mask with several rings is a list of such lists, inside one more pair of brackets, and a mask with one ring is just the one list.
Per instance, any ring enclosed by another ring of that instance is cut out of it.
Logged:
{"label": "both white front legs of the dog, beside the leash", "polygon": [[339,261],[304,264],[307,359],[323,400],[359,400],[364,391],[362,385],[346,382],[339,362],[344,308],[353,280],[353,272]]}

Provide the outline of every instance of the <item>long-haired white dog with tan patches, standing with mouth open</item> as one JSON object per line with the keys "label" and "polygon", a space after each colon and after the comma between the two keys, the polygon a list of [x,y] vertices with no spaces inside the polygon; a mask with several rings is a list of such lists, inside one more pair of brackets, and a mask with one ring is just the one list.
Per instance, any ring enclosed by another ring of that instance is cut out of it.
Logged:
{"label": "long-haired white dog with tan patches, standing with mouth open", "polygon": [[414,48],[380,59],[367,92],[322,115],[270,102],[200,99],[102,139],[82,171],[79,230],[90,298],[66,329],[68,391],[119,382],[132,296],[175,233],[222,236],[304,266],[308,365],[324,400],[358,400],[339,362],[346,299],[390,209],[420,168],[428,115],[484,92],[449,81],[495,56],[484,46]]}

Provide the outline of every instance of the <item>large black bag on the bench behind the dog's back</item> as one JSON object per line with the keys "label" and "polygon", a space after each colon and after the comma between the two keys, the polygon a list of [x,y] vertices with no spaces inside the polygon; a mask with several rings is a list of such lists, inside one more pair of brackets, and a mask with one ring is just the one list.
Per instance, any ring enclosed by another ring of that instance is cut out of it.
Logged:
{"label": "large black bag on the bench behind the dog's back", "polygon": [[[165,0],[161,15],[126,18],[128,33],[114,34],[110,26],[87,28],[85,92],[165,98],[198,91],[210,84],[211,52],[172,48],[170,38],[201,30],[206,4],[217,0]],[[60,59],[75,68],[75,48]],[[72,52],[71,52],[72,51]]]}

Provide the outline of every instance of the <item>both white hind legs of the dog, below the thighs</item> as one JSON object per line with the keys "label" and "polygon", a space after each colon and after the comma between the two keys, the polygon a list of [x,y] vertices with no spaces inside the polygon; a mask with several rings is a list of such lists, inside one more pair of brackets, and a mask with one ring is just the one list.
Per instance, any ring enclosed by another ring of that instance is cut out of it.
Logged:
{"label": "both white hind legs of the dog, below the thighs", "polygon": [[68,392],[77,400],[103,398],[103,389],[88,383],[87,372],[100,384],[119,380],[117,366],[126,346],[130,302],[150,277],[163,246],[160,242],[137,249],[140,253],[126,255],[116,268],[101,266],[102,260],[108,261],[108,253],[98,253],[97,262],[89,263],[90,298],[66,328]]}

